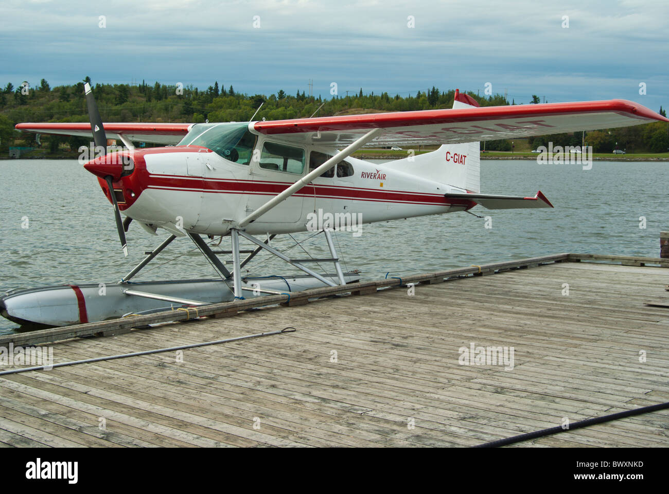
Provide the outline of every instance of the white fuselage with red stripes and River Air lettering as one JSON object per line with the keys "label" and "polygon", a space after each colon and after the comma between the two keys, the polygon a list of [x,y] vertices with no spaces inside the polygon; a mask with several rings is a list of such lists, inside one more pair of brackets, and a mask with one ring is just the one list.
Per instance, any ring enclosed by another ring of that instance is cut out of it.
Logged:
{"label": "white fuselage with red stripes and River Air lettering", "polygon": [[[258,135],[254,154],[260,155],[266,143],[275,142],[271,137]],[[125,151],[133,167],[129,175],[114,179],[119,208],[151,229],[179,226],[197,234],[227,234],[242,218],[308,173],[306,160],[311,153],[326,156],[337,153],[337,149],[318,145],[298,148],[304,151],[304,169],[300,174],[268,169],[261,160],[236,163],[197,145]],[[446,153],[450,161],[464,167],[466,154],[462,152],[439,151],[433,159],[444,159]],[[94,171],[97,165],[109,161],[110,156],[113,155],[94,160],[86,168]],[[116,157],[116,161],[122,160]],[[364,223],[371,223],[444,214],[475,205],[462,199],[447,200],[444,195],[466,192],[465,188],[411,174],[410,165],[422,161],[425,155],[413,157],[405,163],[409,165],[407,171],[401,171],[396,168],[397,162],[387,167],[349,157],[343,173],[317,177],[248,224],[245,230],[250,234],[302,232],[308,229],[308,215],[319,210],[332,215],[357,214]],[[108,173],[108,168],[100,172],[104,173]],[[345,173],[351,174],[337,176]],[[110,199],[102,178],[100,186]]]}

